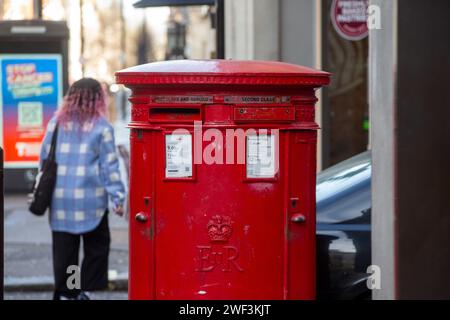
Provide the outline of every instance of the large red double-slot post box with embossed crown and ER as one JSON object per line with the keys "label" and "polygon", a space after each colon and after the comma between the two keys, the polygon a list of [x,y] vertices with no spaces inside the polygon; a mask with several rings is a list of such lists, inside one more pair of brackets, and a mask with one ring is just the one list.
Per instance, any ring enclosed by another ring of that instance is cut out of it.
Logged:
{"label": "large red double-slot post box with embossed crown and ER", "polygon": [[314,299],[315,90],[326,72],[167,61],[131,89],[130,299]]}

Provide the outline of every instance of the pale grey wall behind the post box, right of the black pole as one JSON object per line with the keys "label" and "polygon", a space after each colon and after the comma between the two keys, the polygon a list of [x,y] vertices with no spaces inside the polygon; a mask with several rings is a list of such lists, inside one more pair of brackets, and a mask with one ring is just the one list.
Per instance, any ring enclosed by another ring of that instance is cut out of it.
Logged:
{"label": "pale grey wall behind the post box, right of the black pole", "polygon": [[[321,69],[321,1],[225,0],[225,58],[277,60]],[[320,91],[317,96],[320,125]],[[319,132],[319,171],[321,143]]]}

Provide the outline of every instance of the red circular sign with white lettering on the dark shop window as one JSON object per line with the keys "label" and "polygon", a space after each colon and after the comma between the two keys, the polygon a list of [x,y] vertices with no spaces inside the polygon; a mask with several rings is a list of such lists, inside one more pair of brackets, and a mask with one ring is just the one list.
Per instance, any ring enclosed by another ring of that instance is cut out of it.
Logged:
{"label": "red circular sign with white lettering on the dark shop window", "polygon": [[367,37],[368,2],[368,0],[333,0],[331,21],[341,37],[351,41]]}

